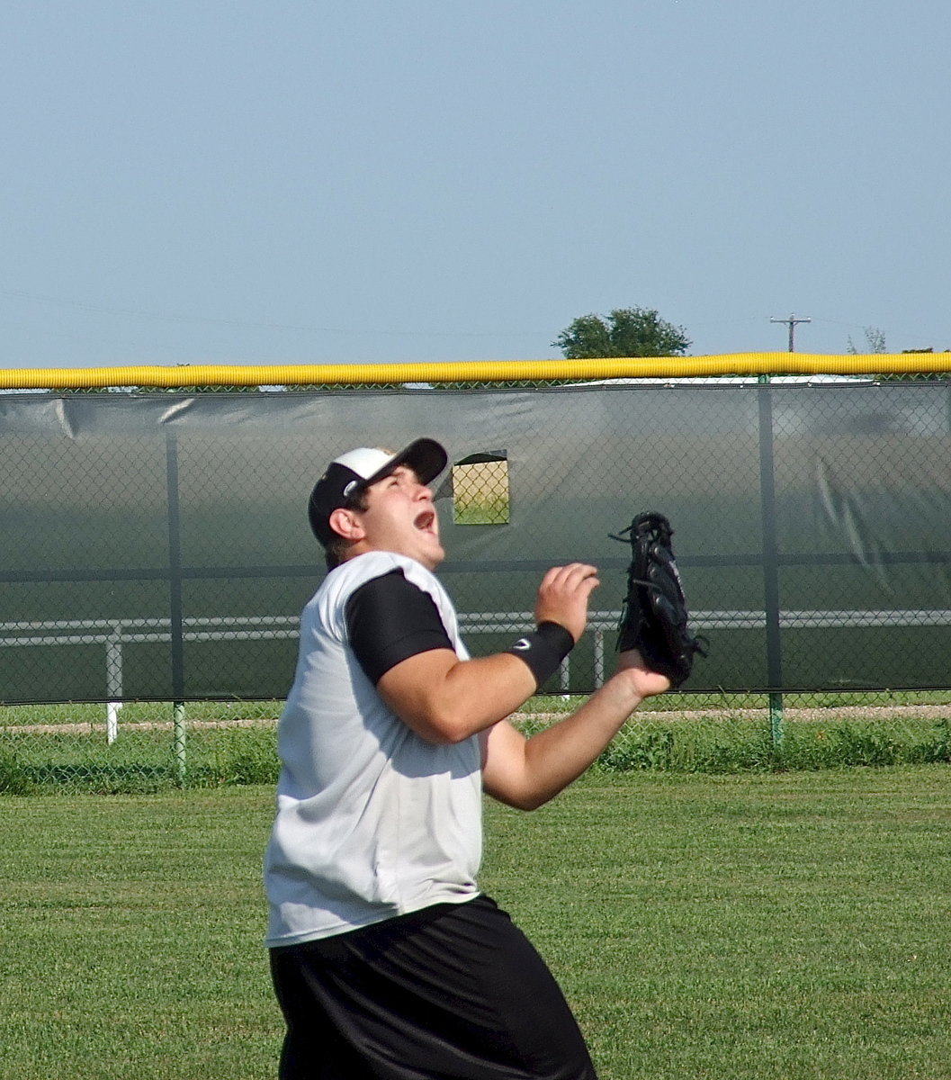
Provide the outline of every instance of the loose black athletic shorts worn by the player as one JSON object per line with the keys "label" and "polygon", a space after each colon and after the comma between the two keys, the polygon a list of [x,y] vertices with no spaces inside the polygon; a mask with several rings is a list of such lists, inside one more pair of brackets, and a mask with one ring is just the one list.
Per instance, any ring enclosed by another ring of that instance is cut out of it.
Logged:
{"label": "loose black athletic shorts worn by the player", "polygon": [[487,896],[271,950],[281,1080],[596,1080],[574,1016]]}

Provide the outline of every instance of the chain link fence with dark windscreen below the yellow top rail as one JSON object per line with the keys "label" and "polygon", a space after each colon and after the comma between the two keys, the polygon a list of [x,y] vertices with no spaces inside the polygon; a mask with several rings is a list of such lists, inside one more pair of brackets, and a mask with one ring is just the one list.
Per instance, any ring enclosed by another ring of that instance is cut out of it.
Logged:
{"label": "chain link fence with dark windscreen below the yellow top rail", "polygon": [[453,462],[441,572],[474,653],[531,624],[548,566],[599,567],[527,728],[610,673],[610,535],[660,510],[710,656],[604,767],[949,759],[946,381],[36,393],[0,399],[0,789],[273,779],[323,576],[310,488],[420,434]]}

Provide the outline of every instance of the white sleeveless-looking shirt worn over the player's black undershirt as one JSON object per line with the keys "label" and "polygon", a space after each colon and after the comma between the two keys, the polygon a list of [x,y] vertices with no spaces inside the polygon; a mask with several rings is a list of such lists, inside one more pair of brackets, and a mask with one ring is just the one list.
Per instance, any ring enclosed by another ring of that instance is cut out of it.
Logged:
{"label": "white sleeveless-looking shirt worn over the player's black undershirt", "polygon": [[426,742],[386,707],[350,646],[348,600],[393,571],[432,597],[456,653],[468,657],[449,597],[416,561],[370,552],[327,575],[301,617],[278,725],[277,814],[264,859],[269,946],[478,893],[478,735]]}

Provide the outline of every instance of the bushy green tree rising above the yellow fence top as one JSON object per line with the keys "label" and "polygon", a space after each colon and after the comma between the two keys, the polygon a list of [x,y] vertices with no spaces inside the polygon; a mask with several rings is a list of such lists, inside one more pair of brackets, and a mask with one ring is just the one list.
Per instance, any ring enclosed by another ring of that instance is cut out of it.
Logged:
{"label": "bushy green tree rising above the yellow fence top", "polygon": [[602,356],[682,356],[690,338],[682,326],[651,308],[615,308],[607,316],[582,315],[552,342],[567,360]]}

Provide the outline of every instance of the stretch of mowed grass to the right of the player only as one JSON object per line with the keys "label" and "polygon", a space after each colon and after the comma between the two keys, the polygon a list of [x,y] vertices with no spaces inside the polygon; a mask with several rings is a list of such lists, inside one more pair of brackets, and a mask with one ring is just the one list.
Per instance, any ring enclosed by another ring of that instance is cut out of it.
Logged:
{"label": "stretch of mowed grass to the right of the player only", "polygon": [[601,778],[493,831],[484,883],[607,1080],[945,1078],[949,826],[947,767]]}

